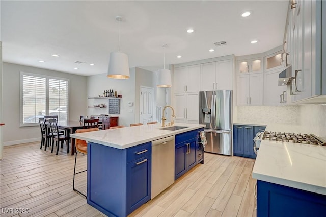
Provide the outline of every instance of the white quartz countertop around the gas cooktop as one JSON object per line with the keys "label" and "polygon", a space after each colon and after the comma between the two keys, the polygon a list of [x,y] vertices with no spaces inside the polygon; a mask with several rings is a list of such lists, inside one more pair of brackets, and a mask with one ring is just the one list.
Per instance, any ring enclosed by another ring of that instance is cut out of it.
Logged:
{"label": "white quartz countertop around the gas cooktop", "polygon": [[[290,125],[267,125],[266,130],[309,134]],[[262,140],[252,176],[326,195],[326,147]]]}

